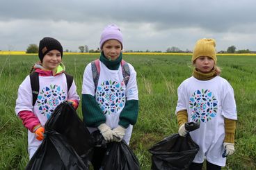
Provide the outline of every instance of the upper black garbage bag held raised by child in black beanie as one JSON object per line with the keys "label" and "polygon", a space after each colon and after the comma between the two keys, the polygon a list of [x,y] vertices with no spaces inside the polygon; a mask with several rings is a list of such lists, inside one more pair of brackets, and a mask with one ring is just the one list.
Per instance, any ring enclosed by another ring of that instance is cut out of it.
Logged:
{"label": "upper black garbage bag held raised by child in black beanie", "polygon": [[45,130],[55,130],[67,139],[77,154],[81,157],[88,155],[95,145],[89,130],[78,117],[76,110],[66,102],[61,103],[54,110],[50,119],[45,124]]}

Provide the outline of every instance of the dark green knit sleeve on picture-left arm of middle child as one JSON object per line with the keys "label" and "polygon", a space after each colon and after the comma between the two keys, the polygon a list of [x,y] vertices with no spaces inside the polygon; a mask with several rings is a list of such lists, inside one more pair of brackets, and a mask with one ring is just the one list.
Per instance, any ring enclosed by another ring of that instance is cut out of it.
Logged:
{"label": "dark green knit sleeve on picture-left arm of middle child", "polygon": [[82,112],[83,123],[86,124],[86,126],[96,128],[100,124],[104,124],[106,122],[106,117],[99,108],[94,96],[90,94],[82,95]]}

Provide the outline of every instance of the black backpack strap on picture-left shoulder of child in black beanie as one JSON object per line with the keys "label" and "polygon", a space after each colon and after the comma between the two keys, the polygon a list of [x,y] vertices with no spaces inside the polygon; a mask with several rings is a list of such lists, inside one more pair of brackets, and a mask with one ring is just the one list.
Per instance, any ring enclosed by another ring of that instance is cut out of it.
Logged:
{"label": "black backpack strap on picture-left shoulder of child in black beanie", "polygon": [[29,77],[33,96],[32,105],[34,106],[39,94],[39,76],[37,72],[33,71],[31,74],[29,74]]}

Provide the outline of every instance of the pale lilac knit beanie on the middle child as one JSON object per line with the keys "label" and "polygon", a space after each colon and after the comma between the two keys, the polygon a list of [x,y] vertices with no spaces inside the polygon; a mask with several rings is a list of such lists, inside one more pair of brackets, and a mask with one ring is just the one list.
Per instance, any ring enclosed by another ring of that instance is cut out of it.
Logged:
{"label": "pale lilac knit beanie on the middle child", "polygon": [[120,31],[120,28],[118,28],[118,26],[116,26],[115,24],[110,24],[104,28],[99,42],[100,49],[102,49],[103,44],[107,40],[118,40],[118,42],[120,42],[122,46],[122,33]]}

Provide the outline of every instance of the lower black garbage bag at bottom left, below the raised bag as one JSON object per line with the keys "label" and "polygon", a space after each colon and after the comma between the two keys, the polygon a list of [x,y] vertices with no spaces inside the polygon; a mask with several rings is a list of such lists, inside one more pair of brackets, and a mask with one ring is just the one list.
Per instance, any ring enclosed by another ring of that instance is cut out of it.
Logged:
{"label": "lower black garbage bag at bottom left, below the raised bag", "polygon": [[56,131],[47,135],[26,169],[88,169],[63,135]]}

